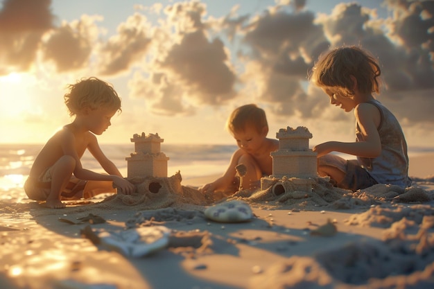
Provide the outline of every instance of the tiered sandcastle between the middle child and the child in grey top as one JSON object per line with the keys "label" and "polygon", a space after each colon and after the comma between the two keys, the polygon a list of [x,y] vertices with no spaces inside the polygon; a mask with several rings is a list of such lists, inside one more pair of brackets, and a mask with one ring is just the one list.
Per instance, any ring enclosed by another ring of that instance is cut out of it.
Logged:
{"label": "tiered sandcastle between the middle child and the child in grey top", "polygon": [[[276,134],[279,150],[271,152],[272,175],[261,178],[261,190],[273,186],[275,194],[288,189],[311,191],[317,173],[317,153],[309,149],[311,132],[299,126],[296,129],[281,128]],[[276,182],[276,179],[280,179]],[[290,182],[288,181],[290,180]]]}

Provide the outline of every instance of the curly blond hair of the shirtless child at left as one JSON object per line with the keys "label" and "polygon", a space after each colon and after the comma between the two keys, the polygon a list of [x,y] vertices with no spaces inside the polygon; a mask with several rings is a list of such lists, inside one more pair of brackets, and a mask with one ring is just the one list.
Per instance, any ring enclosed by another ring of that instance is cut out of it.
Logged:
{"label": "curly blond hair of the shirtless child at left", "polygon": [[64,95],[64,103],[70,116],[78,114],[86,107],[91,110],[107,107],[122,112],[121,98],[112,85],[96,77],[82,78],[75,85],[68,85],[68,89],[69,92]]}

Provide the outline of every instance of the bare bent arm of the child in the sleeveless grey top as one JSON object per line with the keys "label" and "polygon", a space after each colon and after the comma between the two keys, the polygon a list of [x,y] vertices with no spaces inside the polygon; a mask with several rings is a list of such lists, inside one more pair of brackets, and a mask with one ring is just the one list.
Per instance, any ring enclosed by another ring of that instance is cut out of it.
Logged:
{"label": "bare bent arm of the child in the sleeveless grey top", "polygon": [[363,135],[363,141],[344,143],[340,141],[327,141],[313,148],[318,157],[329,152],[343,152],[358,157],[378,157],[381,153],[381,140],[377,130],[381,121],[379,110],[369,103],[361,103],[354,109],[356,121]]}

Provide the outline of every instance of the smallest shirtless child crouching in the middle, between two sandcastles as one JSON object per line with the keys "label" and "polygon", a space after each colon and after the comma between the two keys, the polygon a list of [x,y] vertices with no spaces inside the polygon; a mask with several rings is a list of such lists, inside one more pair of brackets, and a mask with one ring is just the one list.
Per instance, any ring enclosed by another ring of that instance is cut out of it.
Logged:
{"label": "smallest shirtless child crouching in the middle, between two sandcastles", "polygon": [[[272,158],[270,152],[279,148],[277,139],[268,139],[268,122],[266,113],[257,105],[243,105],[236,108],[227,119],[226,127],[236,140],[239,149],[232,155],[229,167],[223,177],[200,188],[202,193],[223,191],[229,195],[238,189],[254,190],[264,175],[272,175]],[[243,164],[246,173],[242,187],[238,186],[236,166]]]}

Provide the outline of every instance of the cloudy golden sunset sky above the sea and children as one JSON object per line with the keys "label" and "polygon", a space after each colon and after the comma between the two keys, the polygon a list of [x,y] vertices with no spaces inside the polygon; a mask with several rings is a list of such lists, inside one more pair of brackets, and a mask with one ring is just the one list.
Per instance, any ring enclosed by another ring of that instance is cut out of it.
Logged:
{"label": "cloudy golden sunset sky above the sea and children", "polygon": [[248,103],[268,137],[304,126],[311,145],[354,141],[354,114],[307,76],[321,53],[359,45],[408,146],[433,147],[434,1],[3,0],[0,40],[0,143],[44,143],[73,120],[67,85],[90,76],[122,98],[100,143],[235,144],[225,122]]}

